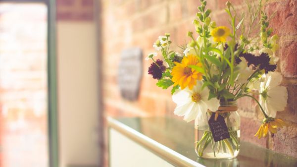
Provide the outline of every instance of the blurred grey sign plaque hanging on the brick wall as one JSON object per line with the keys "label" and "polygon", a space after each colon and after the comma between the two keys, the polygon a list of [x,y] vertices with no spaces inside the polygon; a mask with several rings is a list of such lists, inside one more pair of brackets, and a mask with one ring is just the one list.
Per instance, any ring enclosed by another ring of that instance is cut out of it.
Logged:
{"label": "blurred grey sign plaque hanging on the brick wall", "polygon": [[124,99],[137,100],[143,73],[143,55],[140,48],[122,52],[118,71],[118,84]]}

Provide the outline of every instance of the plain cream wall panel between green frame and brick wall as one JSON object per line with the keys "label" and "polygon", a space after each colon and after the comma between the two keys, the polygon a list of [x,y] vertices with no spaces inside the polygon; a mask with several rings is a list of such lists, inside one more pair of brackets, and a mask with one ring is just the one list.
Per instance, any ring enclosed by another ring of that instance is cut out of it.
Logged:
{"label": "plain cream wall panel between green frame and brick wall", "polygon": [[60,167],[99,165],[95,28],[92,22],[57,22]]}

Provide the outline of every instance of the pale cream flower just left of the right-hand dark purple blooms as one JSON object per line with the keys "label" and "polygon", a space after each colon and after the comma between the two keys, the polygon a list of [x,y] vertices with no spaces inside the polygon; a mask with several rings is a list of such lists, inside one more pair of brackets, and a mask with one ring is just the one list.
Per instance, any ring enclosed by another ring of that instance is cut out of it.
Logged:
{"label": "pale cream flower just left of the right-hand dark purple blooms", "polygon": [[236,83],[245,84],[247,83],[248,77],[253,73],[252,69],[247,66],[247,60],[244,57],[240,57],[242,60],[239,64],[239,75]]}

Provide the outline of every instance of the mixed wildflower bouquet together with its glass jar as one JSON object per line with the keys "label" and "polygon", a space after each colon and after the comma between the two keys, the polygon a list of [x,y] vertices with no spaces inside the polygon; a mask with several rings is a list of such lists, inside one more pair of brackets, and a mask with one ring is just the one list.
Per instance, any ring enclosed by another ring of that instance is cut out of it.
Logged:
{"label": "mixed wildflower bouquet together with its glass jar", "polygon": [[[169,33],[159,36],[153,48],[160,51],[162,59],[155,58],[157,53],[148,55],[146,59],[152,60],[148,74],[158,80],[158,87],[172,87],[175,114],[184,116],[187,122],[195,120],[198,156],[232,158],[239,151],[240,123],[235,120],[239,116],[233,112],[237,111],[238,99],[251,98],[262,111],[264,119],[255,134],[258,138],[286,125],[275,118],[277,111],[285,109],[288,99],[286,87],[280,85],[282,75],[275,71],[278,36],[269,28],[270,18],[261,10],[262,0],[258,5],[247,3],[248,16],[238,14],[228,1],[225,10],[230,27],[217,26],[209,17],[211,10],[205,8],[206,0],[200,2],[193,21],[196,34],[188,32],[191,40],[180,46],[181,53],[170,50]],[[219,134],[221,140],[217,141],[217,127],[212,129],[215,124],[210,120],[220,117],[229,134],[227,138]]]}

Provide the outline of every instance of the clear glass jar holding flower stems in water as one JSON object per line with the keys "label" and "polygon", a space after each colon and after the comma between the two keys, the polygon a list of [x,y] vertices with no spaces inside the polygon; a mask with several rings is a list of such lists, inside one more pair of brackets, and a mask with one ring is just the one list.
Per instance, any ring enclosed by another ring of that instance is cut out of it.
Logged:
{"label": "clear glass jar holding flower stems in water", "polygon": [[[236,106],[236,101],[221,101],[220,107]],[[207,119],[195,119],[195,151],[200,158],[232,159],[237,157],[240,147],[240,115],[237,111],[220,113],[226,122],[230,138],[215,142],[208,125],[213,112],[207,112]]]}

